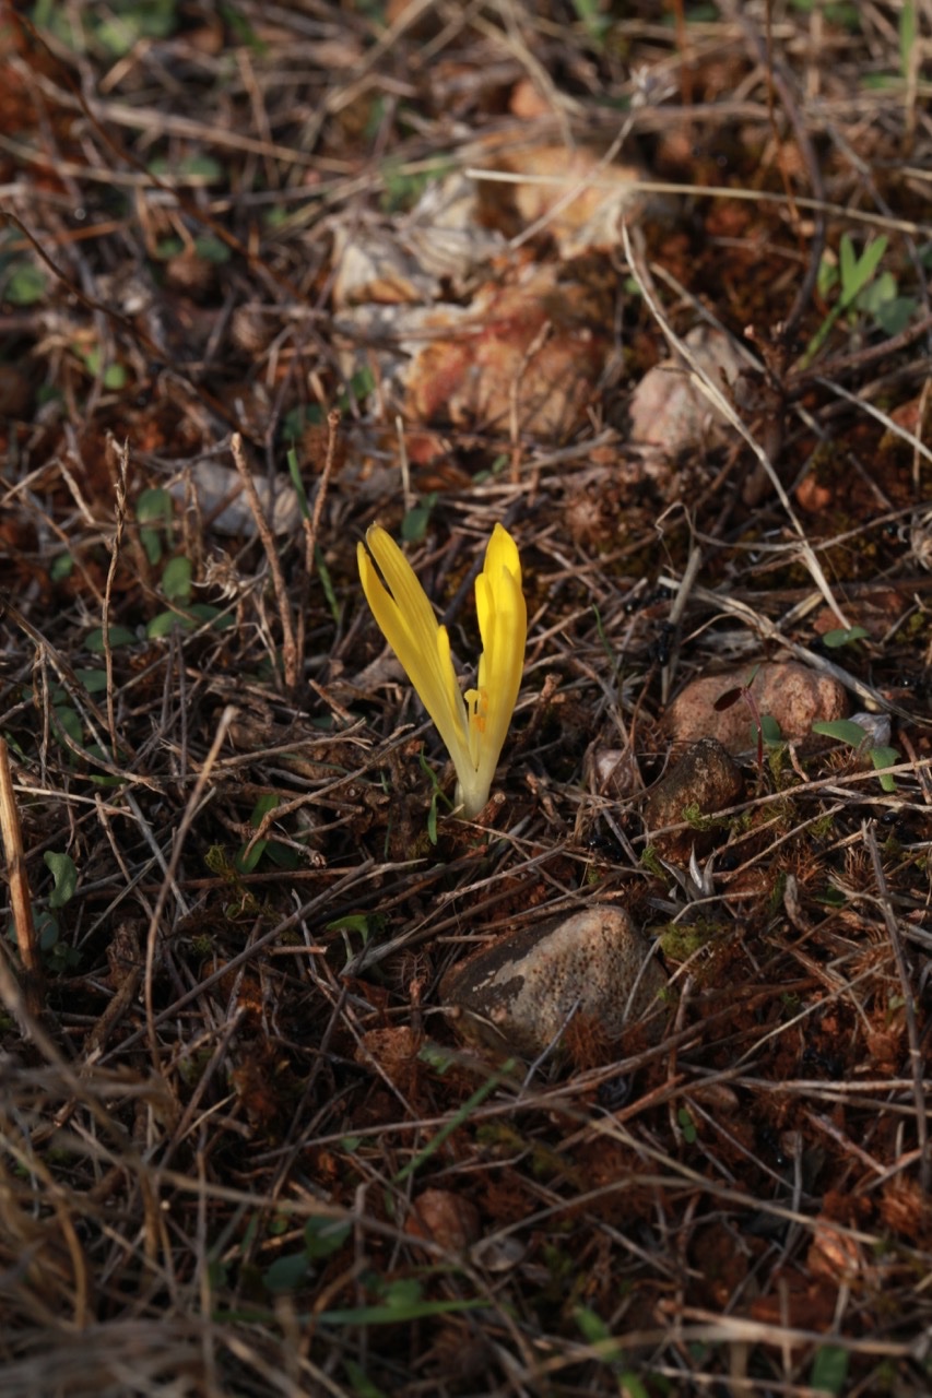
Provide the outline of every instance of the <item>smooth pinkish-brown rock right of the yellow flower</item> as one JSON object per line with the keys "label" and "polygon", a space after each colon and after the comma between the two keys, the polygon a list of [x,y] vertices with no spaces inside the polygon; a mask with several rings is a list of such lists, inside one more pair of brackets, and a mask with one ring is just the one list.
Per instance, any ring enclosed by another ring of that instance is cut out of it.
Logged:
{"label": "smooth pinkish-brown rock right of the yellow flower", "polygon": [[[665,719],[665,728],[675,744],[715,738],[729,752],[751,752],[754,720],[743,698],[729,709],[716,710],[715,702],[729,689],[747,684],[750,665],[722,675],[693,679],[683,689]],[[844,719],[848,696],[830,675],[820,675],[798,660],[768,660],[757,667],[750,692],[763,714],[779,724],[784,738],[807,738],[816,721]]]}

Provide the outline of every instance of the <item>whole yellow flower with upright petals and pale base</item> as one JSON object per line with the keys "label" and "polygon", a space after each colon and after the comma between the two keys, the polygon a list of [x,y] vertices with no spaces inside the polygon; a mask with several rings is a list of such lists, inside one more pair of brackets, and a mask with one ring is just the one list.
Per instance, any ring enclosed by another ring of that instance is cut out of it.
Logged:
{"label": "whole yellow flower with upright petals and pale base", "polygon": [[488,800],[525,665],[528,610],[521,590],[518,548],[511,534],[495,524],[486,563],[476,579],[483,653],[476,688],[463,696],[456,684],[446,626],[438,625],[404,554],[378,524],[367,531],[365,544],[368,552],[360,544],[357,556],[367,601],[446,744],[456,768],[456,804],[472,819]]}

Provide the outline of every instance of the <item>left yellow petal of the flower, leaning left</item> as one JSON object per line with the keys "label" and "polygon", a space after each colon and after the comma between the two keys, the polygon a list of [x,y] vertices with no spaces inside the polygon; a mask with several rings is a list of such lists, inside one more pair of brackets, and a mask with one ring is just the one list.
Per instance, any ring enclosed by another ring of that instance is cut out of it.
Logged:
{"label": "left yellow petal of the flower, leaning left", "polygon": [[395,540],[374,524],[365,535],[372,558],[379,565],[390,593],[382,584],[372,558],[362,544],[357,547],[362,591],[389,646],[402,663],[421,703],[437,724],[462,779],[469,768],[466,706],[456,684],[446,628],[438,625],[414,569]]}

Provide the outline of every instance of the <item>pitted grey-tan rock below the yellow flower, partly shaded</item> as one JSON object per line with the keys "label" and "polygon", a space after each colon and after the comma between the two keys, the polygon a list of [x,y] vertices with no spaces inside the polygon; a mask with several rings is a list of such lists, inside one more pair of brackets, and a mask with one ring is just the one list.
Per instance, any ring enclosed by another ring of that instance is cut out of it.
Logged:
{"label": "pitted grey-tan rock below the yellow flower, partly shaded", "polygon": [[[535,1058],[575,1012],[607,1040],[645,1015],[666,986],[651,952],[626,911],[593,903],[476,952],[444,977],[441,997],[466,1039]],[[659,1019],[652,1029],[659,1037]]]}

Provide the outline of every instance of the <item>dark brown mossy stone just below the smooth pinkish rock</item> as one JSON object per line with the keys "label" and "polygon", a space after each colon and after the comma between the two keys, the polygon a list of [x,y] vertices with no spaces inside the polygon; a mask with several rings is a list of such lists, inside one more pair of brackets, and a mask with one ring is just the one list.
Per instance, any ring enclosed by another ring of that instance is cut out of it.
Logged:
{"label": "dark brown mossy stone just below the smooth pinkish rock", "polygon": [[[737,763],[715,738],[702,738],[683,754],[679,762],[652,787],[644,807],[648,830],[662,832],[666,825],[680,825],[690,807],[714,815],[740,800],[744,779]],[[686,863],[693,850],[704,854],[712,847],[712,830],[669,830],[651,836],[663,858]]]}

